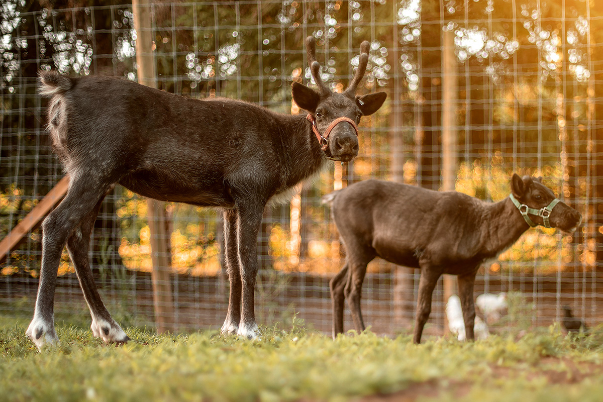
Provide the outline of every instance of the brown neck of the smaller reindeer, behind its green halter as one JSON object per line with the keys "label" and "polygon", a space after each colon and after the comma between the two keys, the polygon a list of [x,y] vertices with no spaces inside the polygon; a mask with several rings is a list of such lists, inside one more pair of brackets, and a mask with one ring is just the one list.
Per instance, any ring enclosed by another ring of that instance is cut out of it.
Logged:
{"label": "brown neck of the smaller reindeer, behind its green halter", "polygon": [[497,256],[511,247],[529,229],[519,210],[508,197],[498,203],[488,204],[484,211],[484,250]]}

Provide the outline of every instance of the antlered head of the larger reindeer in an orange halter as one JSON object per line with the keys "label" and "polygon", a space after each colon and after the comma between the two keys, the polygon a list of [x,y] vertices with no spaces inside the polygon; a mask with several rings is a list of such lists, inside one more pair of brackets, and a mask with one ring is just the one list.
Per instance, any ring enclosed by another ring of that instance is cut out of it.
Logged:
{"label": "antlered head of the larger reindeer in an orange halter", "polygon": [[320,78],[320,64],[316,61],[314,37],[306,39],[308,65],[318,91],[303,84],[293,83],[293,99],[308,110],[308,120],[314,125],[314,133],[321,142],[324,154],[330,159],[348,162],[358,155],[358,128],[362,116],[379,110],[387,94],[385,92],[356,96],[356,87],[367,69],[369,45],[360,45],[360,63],[349,87],[343,93],[332,92]]}

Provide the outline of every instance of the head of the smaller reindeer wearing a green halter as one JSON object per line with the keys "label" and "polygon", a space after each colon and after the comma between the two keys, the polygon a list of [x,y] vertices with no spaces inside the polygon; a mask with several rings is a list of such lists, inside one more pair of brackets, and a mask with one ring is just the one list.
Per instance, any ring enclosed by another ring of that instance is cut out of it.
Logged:
{"label": "head of the smaller reindeer wearing a green halter", "polygon": [[513,174],[511,201],[530,226],[543,225],[572,233],[582,223],[582,215],[559,201],[552,190],[542,184],[542,177],[522,178]]}

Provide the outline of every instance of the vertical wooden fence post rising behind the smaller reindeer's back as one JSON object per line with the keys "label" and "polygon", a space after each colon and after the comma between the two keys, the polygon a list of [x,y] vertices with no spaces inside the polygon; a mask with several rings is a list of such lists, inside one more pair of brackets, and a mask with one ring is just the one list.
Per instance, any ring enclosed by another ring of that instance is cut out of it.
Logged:
{"label": "vertical wooden fence post rising behind the smaller reindeer's back", "polygon": [[[454,31],[443,31],[442,55],[442,190],[453,191],[457,175],[456,158],[456,104],[458,98],[458,61],[456,60]],[[444,275],[444,303],[456,293],[452,276]],[[446,315],[444,315],[446,317]],[[445,331],[448,330],[447,320]]]}

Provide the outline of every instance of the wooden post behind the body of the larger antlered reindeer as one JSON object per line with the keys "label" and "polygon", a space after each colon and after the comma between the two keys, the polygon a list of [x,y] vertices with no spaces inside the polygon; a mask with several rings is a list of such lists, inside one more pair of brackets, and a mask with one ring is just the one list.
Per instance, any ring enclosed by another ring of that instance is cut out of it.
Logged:
{"label": "wooden post behind the body of the larger antlered reindeer", "polygon": [[[134,28],[136,29],[136,64],[138,82],[156,88],[155,62],[153,60],[153,32],[151,31],[151,5],[148,0],[133,0]],[[169,219],[165,203],[147,200],[148,224],[151,232],[151,281],[157,332],[174,329],[174,298],[172,297],[171,253]]]}

